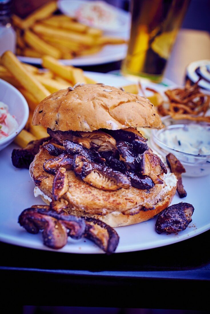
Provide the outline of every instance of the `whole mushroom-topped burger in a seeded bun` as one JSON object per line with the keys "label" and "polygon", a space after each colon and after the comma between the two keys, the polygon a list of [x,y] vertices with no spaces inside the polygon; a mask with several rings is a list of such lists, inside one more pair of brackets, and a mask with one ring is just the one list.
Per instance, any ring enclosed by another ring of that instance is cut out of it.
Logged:
{"label": "whole mushroom-topped burger in a seeded bun", "polygon": [[152,103],[104,84],[76,84],[36,107],[49,138],[30,164],[35,196],[56,212],[111,227],[151,219],[171,203],[177,179],[138,127],[161,128]]}

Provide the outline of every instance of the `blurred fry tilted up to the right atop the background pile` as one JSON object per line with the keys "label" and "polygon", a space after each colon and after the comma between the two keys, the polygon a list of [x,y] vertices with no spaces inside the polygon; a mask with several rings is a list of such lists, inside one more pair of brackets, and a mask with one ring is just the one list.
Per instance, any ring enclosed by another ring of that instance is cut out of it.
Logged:
{"label": "blurred fry tilted up to the right atop the background pile", "polygon": [[41,8],[34,11],[26,19],[20,19],[17,16],[13,16],[13,22],[21,29],[27,29],[31,27],[36,21],[46,19],[57,9],[56,1],[51,1],[44,4]]}

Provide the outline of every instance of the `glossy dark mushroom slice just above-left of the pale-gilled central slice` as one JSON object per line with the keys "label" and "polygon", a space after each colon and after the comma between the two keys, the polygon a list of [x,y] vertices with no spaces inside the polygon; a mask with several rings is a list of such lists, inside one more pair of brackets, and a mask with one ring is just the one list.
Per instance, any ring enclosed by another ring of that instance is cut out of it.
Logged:
{"label": "glossy dark mushroom slice just above-left of the pale-gilled central slice", "polygon": [[73,141],[65,140],[63,145],[66,151],[70,154],[78,154],[85,157],[87,160],[96,161],[99,163],[104,163],[104,159],[96,151],[91,151],[86,147],[83,147],[81,144],[75,143]]}

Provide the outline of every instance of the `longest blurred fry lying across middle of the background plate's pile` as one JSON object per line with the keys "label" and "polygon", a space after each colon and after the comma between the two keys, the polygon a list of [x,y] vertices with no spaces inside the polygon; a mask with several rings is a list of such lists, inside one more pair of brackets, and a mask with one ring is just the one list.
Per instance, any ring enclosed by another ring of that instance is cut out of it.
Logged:
{"label": "longest blurred fry lying across middle of the background plate's pile", "polygon": [[55,29],[41,23],[35,24],[33,26],[33,30],[35,33],[40,35],[53,36],[54,38],[63,38],[65,40],[72,40],[78,43],[82,43],[86,46],[93,46],[95,45],[96,41],[93,36],[88,34],[79,34],[72,31]]}

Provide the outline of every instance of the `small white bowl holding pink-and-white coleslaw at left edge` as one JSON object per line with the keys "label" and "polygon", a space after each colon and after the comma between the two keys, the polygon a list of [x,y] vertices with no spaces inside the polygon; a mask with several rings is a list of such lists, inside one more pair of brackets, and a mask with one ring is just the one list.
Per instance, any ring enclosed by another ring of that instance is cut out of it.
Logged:
{"label": "small white bowl holding pink-and-white coleslaw at left edge", "polygon": [[8,146],[25,127],[29,108],[23,95],[0,79],[0,150]]}

